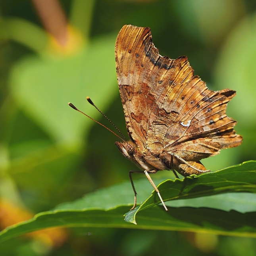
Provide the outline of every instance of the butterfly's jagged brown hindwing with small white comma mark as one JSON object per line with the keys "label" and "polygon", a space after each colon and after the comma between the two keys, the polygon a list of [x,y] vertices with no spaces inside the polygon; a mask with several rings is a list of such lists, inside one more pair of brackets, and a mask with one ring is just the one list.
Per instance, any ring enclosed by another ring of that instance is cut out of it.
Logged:
{"label": "butterfly's jagged brown hindwing with small white comma mark", "polygon": [[175,71],[166,74],[166,87],[150,116],[146,138],[149,150],[154,152],[158,145],[186,161],[196,162],[223,148],[239,146],[242,137],[233,129],[236,121],[226,114],[227,103],[235,91],[208,89],[204,81],[194,76],[187,58],[177,60],[170,60]]}

